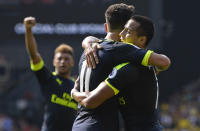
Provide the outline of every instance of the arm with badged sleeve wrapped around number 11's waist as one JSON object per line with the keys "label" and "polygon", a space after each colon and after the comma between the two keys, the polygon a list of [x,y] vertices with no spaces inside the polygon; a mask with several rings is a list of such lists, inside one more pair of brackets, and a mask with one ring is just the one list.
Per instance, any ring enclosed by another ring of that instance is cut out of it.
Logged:
{"label": "arm with badged sleeve wrapped around number 11's waist", "polygon": [[128,63],[123,63],[116,66],[109,77],[99,84],[99,86],[93,91],[86,92],[76,92],[73,94],[73,97],[78,100],[81,105],[93,109],[101,105],[104,101],[110,99],[114,95],[117,95],[121,88],[127,87],[124,86],[130,85],[130,80],[127,77],[131,76],[131,82],[136,81],[138,78],[137,68],[128,68]]}

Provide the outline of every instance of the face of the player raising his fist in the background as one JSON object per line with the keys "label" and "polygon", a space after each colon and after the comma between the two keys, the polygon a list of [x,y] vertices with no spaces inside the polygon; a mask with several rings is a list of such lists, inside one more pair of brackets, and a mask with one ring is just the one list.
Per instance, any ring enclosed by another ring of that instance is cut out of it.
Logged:
{"label": "face of the player raising his fist in the background", "polygon": [[70,54],[58,52],[54,56],[53,64],[58,74],[67,74],[73,67],[74,60]]}

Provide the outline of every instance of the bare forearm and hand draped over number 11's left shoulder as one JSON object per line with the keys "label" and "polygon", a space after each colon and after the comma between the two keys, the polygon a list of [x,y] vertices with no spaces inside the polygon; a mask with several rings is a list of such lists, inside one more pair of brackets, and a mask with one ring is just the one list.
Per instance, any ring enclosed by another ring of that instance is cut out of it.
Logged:
{"label": "bare forearm and hand draped over number 11's left shoulder", "polygon": [[94,36],[88,36],[82,42],[87,65],[93,69],[96,68],[96,64],[99,63],[99,59],[97,57],[97,50],[101,49],[101,46],[97,43],[99,41],[100,39]]}

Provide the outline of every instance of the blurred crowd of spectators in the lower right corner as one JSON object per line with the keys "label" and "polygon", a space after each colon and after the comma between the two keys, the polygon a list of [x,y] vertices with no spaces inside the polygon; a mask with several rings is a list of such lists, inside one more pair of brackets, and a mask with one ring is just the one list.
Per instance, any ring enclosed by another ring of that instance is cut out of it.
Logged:
{"label": "blurred crowd of spectators in the lower right corner", "polygon": [[161,123],[165,131],[200,131],[200,78],[162,103]]}

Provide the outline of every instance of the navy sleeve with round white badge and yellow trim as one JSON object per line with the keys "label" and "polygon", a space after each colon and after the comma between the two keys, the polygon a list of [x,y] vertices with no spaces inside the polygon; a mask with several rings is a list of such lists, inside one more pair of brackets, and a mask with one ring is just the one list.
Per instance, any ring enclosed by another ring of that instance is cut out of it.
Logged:
{"label": "navy sleeve with round white badge and yellow trim", "polygon": [[105,80],[106,84],[113,89],[115,95],[127,86],[133,86],[130,83],[138,79],[138,69],[129,63],[123,63],[115,68]]}

